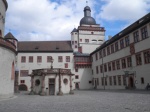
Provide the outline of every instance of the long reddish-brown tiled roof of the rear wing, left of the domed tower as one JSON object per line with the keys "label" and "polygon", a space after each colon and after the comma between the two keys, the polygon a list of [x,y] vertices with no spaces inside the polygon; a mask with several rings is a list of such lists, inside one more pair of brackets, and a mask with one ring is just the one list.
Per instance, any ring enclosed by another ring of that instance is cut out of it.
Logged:
{"label": "long reddish-brown tiled roof of the rear wing, left of the domed tower", "polygon": [[18,52],[73,52],[71,41],[20,41]]}

